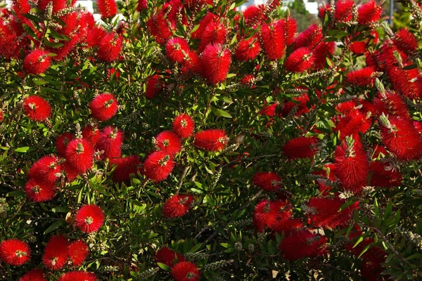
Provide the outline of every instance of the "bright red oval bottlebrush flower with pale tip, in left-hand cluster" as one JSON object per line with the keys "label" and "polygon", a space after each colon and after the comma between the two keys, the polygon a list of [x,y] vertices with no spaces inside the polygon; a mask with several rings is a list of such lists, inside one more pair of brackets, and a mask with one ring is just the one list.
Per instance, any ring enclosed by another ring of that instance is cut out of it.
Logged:
{"label": "bright red oval bottlebrush flower with pale tip, in left-hand cluster", "polygon": [[94,148],[84,138],[71,141],[66,148],[66,161],[80,173],[92,168]]}

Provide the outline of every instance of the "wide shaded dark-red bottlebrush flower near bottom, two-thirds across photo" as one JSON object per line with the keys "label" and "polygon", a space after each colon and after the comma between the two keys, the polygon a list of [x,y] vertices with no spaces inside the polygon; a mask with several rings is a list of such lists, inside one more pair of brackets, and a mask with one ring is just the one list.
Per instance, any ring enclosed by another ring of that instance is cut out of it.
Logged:
{"label": "wide shaded dark-red bottlebrush flower near bottom, two-thirds across photo", "polygon": [[297,261],[303,258],[313,258],[321,256],[326,252],[325,245],[327,237],[315,235],[308,230],[299,230],[285,237],[279,249],[284,259],[288,261]]}

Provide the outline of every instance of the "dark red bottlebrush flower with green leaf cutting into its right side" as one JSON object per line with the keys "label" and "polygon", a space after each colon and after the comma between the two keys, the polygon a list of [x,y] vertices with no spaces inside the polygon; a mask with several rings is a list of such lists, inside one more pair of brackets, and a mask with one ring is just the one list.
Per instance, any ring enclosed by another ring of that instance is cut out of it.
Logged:
{"label": "dark red bottlebrush flower with green leaf cutting into its right side", "polygon": [[341,210],[340,207],[345,200],[338,197],[321,198],[314,197],[309,200],[308,207],[311,213],[308,214],[308,223],[317,228],[342,228],[347,226],[354,209],[359,207],[359,202],[355,202],[351,206]]}

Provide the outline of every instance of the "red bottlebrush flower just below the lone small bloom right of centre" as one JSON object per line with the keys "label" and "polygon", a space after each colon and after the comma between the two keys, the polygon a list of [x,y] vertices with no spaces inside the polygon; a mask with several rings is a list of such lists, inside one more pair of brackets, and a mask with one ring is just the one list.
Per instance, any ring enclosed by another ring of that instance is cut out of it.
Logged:
{"label": "red bottlebrush flower just below the lone small bloom right of centre", "polygon": [[258,232],[267,227],[274,229],[281,221],[286,221],[292,216],[292,210],[287,202],[262,200],[253,211],[253,223]]}

